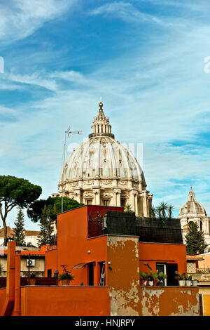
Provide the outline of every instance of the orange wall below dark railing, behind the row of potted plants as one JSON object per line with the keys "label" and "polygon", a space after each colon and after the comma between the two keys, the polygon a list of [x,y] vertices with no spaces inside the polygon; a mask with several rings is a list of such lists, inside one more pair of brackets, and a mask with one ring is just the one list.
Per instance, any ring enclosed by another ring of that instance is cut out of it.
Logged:
{"label": "orange wall below dark railing, behind the row of potted plants", "polygon": [[178,272],[187,272],[186,245],[139,242],[140,270],[148,272],[148,268],[144,265],[148,263],[155,272],[157,262],[177,263]]}

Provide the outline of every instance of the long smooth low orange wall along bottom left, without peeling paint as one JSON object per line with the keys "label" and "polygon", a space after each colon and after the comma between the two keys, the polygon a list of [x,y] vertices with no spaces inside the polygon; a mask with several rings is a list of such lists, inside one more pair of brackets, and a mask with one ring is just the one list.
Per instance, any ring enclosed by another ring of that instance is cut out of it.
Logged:
{"label": "long smooth low orange wall along bottom left, without peeling paint", "polygon": [[21,316],[109,316],[106,286],[25,286],[20,293]]}

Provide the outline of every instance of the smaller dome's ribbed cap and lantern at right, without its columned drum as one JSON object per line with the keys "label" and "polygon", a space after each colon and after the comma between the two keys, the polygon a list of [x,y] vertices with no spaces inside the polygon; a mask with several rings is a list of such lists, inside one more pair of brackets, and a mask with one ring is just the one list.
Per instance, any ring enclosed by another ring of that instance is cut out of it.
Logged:
{"label": "smaller dome's ribbed cap and lantern at right, without its columned drum", "polygon": [[207,216],[207,213],[199,202],[195,199],[195,192],[193,192],[192,187],[190,187],[190,192],[188,194],[188,202],[181,206],[179,211],[179,218],[183,218],[183,216]]}

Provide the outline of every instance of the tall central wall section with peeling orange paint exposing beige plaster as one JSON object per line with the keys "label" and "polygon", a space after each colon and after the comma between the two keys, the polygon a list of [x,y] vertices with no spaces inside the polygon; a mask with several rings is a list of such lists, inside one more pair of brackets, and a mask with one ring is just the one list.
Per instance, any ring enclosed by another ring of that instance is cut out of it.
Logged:
{"label": "tall central wall section with peeling orange paint exposing beige plaster", "polygon": [[139,315],[139,239],[107,237],[111,315]]}

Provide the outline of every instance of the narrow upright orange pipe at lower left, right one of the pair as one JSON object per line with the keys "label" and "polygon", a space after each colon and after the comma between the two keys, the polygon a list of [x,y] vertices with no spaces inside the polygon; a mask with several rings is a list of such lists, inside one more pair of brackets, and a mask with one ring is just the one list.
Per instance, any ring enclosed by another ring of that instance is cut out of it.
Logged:
{"label": "narrow upright orange pipe at lower left, right one of the pair", "polygon": [[15,253],[15,305],[14,316],[20,316],[20,251]]}

